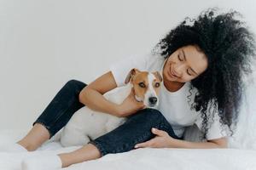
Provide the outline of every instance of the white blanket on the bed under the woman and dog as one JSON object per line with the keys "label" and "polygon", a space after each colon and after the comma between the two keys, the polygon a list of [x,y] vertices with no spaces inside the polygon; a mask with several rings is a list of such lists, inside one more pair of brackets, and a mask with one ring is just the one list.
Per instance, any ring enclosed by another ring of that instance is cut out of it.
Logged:
{"label": "white blanket on the bed under the woman and dog", "polygon": [[[0,144],[15,142],[26,131],[0,131]],[[28,156],[58,154],[79,147],[63,148],[57,141],[49,141],[38,150],[23,153],[0,153],[1,170],[20,170],[21,160]],[[94,161],[63,168],[64,170],[256,170],[256,150],[241,149],[137,149],[125,153],[108,154]]]}

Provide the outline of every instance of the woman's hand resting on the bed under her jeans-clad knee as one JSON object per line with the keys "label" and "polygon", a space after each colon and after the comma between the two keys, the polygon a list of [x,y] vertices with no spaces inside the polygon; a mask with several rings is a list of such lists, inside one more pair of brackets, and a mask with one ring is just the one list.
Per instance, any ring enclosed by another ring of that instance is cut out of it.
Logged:
{"label": "woman's hand resting on the bed under her jeans-clad knee", "polygon": [[166,131],[159,130],[157,128],[151,129],[152,133],[156,134],[154,139],[150,139],[147,142],[136,144],[134,148],[170,148],[172,140],[174,140]]}

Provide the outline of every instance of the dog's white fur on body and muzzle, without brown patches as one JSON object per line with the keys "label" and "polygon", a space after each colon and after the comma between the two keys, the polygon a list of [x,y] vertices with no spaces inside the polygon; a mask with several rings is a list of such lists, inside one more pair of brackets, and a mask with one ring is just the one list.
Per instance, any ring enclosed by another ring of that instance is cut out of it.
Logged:
{"label": "dog's white fur on body and muzzle, without brown patches", "polygon": [[[131,74],[129,75],[131,76]],[[129,75],[127,78],[131,80]],[[148,82],[153,82],[154,79],[154,74],[148,73]],[[127,98],[129,94],[131,94],[131,88],[133,88],[133,86],[130,82],[127,83],[124,87],[116,88],[106,94],[103,94],[103,96],[105,99],[120,105],[124,99]],[[152,83],[148,83],[148,90],[144,94],[144,99],[140,99],[137,96],[135,97],[138,101],[143,101],[146,107],[152,108],[152,106],[149,106],[148,103],[149,97],[157,98],[157,103],[153,106],[153,108],[156,107],[159,103],[159,99],[155,93],[154,88],[152,87]],[[61,132],[61,144],[63,146],[87,144],[90,139],[96,139],[103,134],[112,131],[114,128],[119,127],[125,121],[125,117],[118,117],[108,113],[93,111],[90,110],[89,107],[84,106],[73,114],[71,120],[67,122],[67,125],[63,128]]]}

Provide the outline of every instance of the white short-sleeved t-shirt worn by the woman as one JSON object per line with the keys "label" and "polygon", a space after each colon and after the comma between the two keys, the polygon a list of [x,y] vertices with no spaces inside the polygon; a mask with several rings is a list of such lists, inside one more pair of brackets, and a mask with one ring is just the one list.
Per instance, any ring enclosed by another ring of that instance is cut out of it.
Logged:
{"label": "white short-sleeved t-shirt worn by the woman", "polygon": [[[140,71],[159,71],[162,76],[163,66],[166,62],[160,54],[133,55],[119,60],[110,66],[115,82],[118,87],[125,85],[125,77],[133,68]],[[174,133],[178,137],[183,136],[185,127],[196,124],[201,129],[202,118],[200,112],[191,110],[191,104],[194,102],[196,89],[189,93],[190,82],[186,82],[182,88],[176,92],[170,92],[166,89],[164,83],[160,87],[160,104],[158,110],[166,117],[166,120],[172,125]],[[189,99],[188,99],[189,96]],[[190,102],[189,102],[190,100]],[[209,112],[209,109],[208,109]],[[224,127],[219,122],[218,112],[215,111],[211,127],[208,129],[207,139],[218,139],[227,136]]]}

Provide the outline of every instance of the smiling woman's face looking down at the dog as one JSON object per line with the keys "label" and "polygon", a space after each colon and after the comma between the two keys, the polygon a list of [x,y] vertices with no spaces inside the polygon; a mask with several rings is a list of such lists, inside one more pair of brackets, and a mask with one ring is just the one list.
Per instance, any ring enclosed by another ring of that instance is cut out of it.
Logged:
{"label": "smiling woman's face looking down at the dog", "polygon": [[195,45],[178,48],[166,61],[163,77],[167,82],[189,82],[207,70],[207,56]]}

